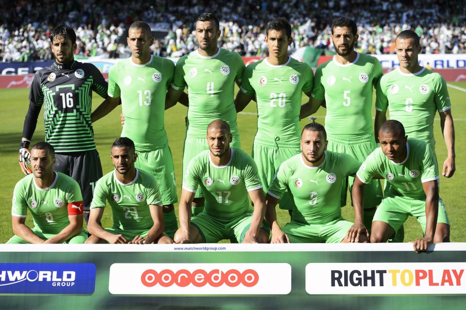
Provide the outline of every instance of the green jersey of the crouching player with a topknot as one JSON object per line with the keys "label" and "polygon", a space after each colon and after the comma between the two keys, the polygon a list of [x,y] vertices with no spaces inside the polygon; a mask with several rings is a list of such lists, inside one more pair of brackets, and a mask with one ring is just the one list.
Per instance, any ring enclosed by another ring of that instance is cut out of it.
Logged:
{"label": "green jersey of the crouching player with a topknot", "polygon": [[340,218],[343,180],[354,175],[360,163],[348,154],[327,150],[320,166],[309,167],[301,154],[280,165],[268,194],[280,198],[285,191],[291,192],[295,202],[293,222],[326,224]]}

